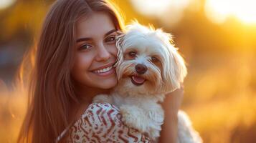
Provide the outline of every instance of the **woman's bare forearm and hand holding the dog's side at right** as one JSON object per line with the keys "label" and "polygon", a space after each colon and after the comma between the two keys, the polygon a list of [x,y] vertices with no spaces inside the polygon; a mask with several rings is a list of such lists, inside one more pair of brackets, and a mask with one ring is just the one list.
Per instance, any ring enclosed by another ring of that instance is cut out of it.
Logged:
{"label": "woman's bare forearm and hand holding the dog's side at right", "polygon": [[161,126],[159,143],[176,143],[178,137],[178,111],[184,94],[184,87],[166,94],[166,98],[161,104],[164,110],[164,123]]}

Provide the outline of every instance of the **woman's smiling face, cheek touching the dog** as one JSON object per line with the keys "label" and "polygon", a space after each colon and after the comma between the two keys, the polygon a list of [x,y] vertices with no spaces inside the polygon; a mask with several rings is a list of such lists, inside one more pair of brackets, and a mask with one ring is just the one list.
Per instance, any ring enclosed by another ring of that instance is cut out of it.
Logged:
{"label": "woman's smiling face, cheek touching the dog", "polygon": [[94,13],[77,21],[75,64],[71,74],[83,88],[110,89],[117,84],[113,64],[117,59],[117,31],[110,17]]}

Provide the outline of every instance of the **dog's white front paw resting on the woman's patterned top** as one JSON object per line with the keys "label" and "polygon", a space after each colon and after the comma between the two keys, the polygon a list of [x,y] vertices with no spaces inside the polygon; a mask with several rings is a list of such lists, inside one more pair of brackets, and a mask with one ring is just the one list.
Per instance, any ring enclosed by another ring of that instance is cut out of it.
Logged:
{"label": "dog's white front paw resting on the woman's patterned top", "polygon": [[122,122],[139,132],[146,132],[146,122],[143,121],[143,113],[137,107],[121,106],[120,114],[122,114]]}

